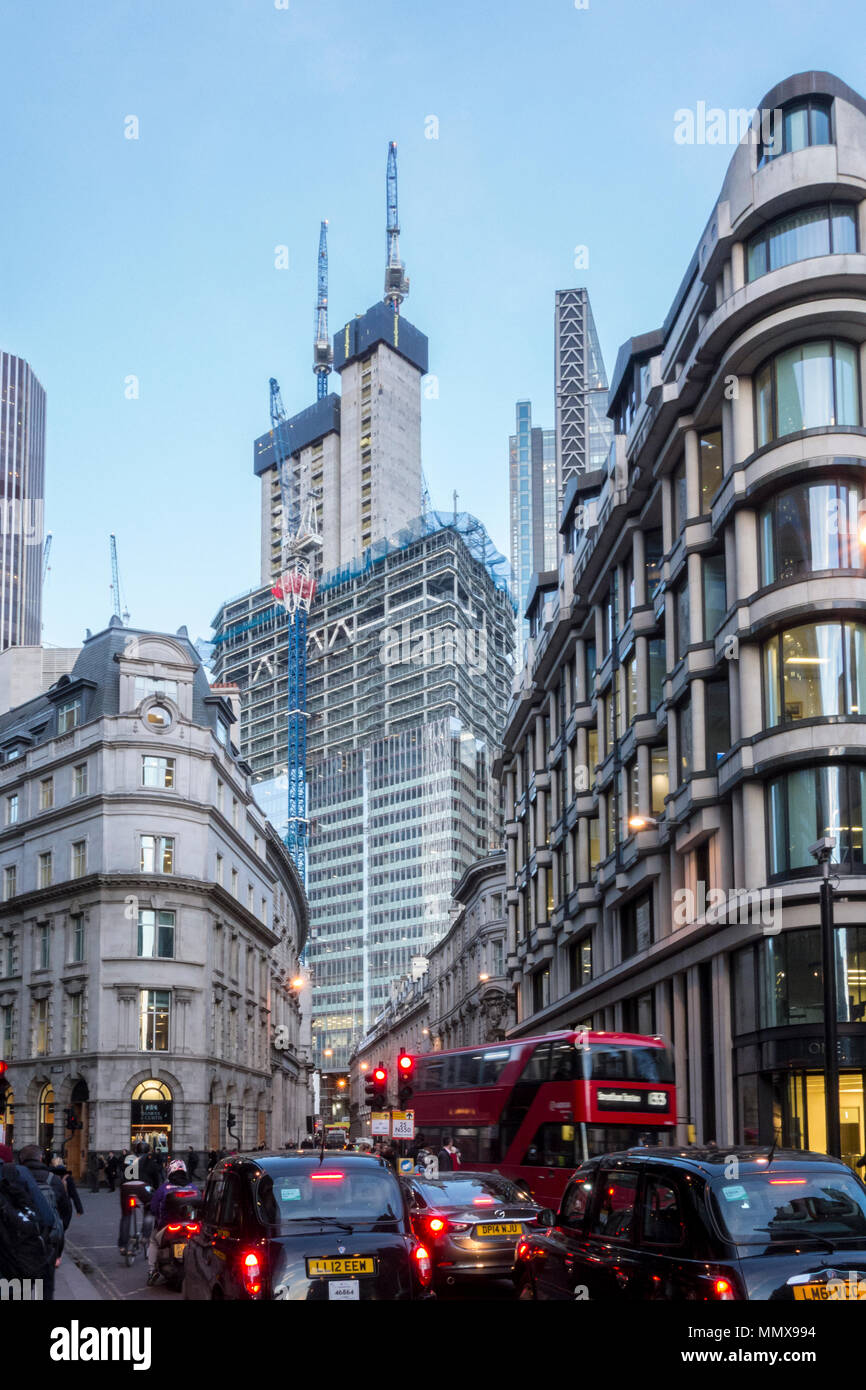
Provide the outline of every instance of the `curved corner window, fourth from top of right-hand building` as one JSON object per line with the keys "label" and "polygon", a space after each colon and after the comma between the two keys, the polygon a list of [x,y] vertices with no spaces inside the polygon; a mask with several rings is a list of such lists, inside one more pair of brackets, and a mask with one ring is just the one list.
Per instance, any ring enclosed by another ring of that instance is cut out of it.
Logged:
{"label": "curved corner window, fourth from top of right-hand building", "polygon": [[852,482],[816,482],[773,498],[760,517],[762,582],[785,582],[820,570],[866,569],[862,495]]}

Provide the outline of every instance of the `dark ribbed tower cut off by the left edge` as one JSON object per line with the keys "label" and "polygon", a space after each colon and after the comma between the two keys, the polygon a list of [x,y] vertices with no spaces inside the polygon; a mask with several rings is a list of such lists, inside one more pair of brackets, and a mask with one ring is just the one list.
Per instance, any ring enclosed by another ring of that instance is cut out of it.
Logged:
{"label": "dark ribbed tower cut off by the left edge", "polygon": [[0,651],[42,642],[44,391],[0,352]]}

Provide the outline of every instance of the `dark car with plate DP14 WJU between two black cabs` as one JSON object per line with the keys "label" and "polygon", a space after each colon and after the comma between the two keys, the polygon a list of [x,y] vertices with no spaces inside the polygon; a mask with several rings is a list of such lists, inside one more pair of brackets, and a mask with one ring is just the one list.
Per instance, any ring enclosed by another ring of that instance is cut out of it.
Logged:
{"label": "dark car with plate DP14 WJU between two black cabs", "polygon": [[514,1273],[517,1241],[541,1211],[527,1187],[499,1173],[464,1170],[413,1175],[403,1186],[413,1230],[432,1257],[435,1283]]}

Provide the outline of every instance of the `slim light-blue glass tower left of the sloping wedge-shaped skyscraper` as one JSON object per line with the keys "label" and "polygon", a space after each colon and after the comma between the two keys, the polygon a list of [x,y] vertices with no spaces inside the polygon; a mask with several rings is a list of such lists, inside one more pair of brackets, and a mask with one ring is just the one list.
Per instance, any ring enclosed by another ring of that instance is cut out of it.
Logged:
{"label": "slim light-blue glass tower left of the sloping wedge-shaped skyscraper", "polygon": [[559,499],[556,431],[532,427],[532,406],[518,400],[509,438],[512,570],[517,599],[517,635],[528,635],[524,609],[534,574],[556,569]]}

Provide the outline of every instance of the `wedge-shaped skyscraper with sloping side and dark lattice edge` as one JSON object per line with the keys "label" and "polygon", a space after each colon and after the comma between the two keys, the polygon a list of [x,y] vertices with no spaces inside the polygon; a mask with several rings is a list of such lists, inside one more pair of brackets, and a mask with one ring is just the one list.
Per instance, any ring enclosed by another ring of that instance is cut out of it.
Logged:
{"label": "wedge-shaped skyscraper with sloping side and dark lattice edge", "polygon": [[585,289],[556,291],[556,471],[559,506],[578,473],[601,468],[613,439],[607,374]]}

